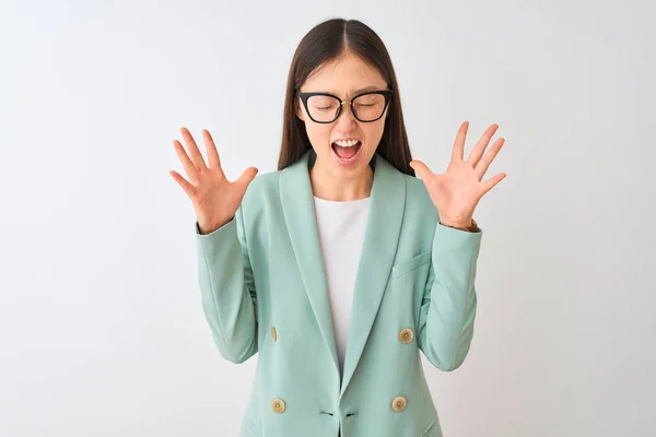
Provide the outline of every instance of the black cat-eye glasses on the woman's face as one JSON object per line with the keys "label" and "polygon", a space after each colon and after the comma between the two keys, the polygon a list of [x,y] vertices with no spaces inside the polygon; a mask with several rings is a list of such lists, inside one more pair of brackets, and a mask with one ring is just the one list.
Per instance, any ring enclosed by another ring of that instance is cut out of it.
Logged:
{"label": "black cat-eye glasses on the woman's face", "polygon": [[358,94],[351,102],[343,102],[328,93],[298,93],[298,97],[305,106],[305,111],[315,122],[331,123],[337,120],[344,103],[351,106],[351,113],[358,120],[372,122],[383,117],[391,93],[391,90],[367,91]]}

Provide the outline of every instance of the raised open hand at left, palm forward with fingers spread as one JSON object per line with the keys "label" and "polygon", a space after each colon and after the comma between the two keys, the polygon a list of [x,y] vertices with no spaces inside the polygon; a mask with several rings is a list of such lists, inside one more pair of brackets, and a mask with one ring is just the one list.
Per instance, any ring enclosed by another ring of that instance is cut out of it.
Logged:
{"label": "raised open hand at left, palm forward with fingers spread", "polygon": [[223,174],[221,160],[210,132],[206,129],[202,130],[210,162],[209,167],[206,165],[198,145],[196,145],[196,141],[194,141],[187,128],[180,128],[180,132],[189,150],[190,157],[179,141],[174,140],[173,145],[189,181],[175,170],[168,173],[189,196],[201,234],[210,234],[232,220],[242,204],[246,188],[259,170],[256,167],[248,167],[237,180],[231,182]]}

